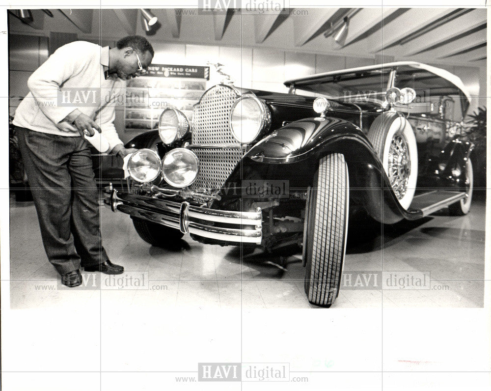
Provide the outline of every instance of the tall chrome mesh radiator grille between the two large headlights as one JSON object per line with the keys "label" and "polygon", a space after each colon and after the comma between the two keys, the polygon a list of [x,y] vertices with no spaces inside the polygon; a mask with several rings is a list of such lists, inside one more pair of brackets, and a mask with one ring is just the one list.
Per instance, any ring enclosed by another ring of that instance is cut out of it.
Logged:
{"label": "tall chrome mesh radiator grille between the two large headlights", "polygon": [[[233,88],[216,85],[205,92],[194,107],[192,151],[200,166],[198,177],[190,186],[193,191],[218,193],[244,156],[241,144],[232,136],[228,126],[228,116],[238,97]],[[207,148],[201,148],[202,145]]]}

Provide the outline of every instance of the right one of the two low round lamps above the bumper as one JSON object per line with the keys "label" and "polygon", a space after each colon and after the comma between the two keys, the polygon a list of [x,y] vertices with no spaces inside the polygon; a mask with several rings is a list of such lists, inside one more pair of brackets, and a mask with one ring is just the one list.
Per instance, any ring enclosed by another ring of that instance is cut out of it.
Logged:
{"label": "right one of the two low round lamps above the bumper", "polygon": [[194,152],[186,148],[175,148],[162,159],[162,174],[165,181],[174,187],[187,187],[198,176],[199,161]]}

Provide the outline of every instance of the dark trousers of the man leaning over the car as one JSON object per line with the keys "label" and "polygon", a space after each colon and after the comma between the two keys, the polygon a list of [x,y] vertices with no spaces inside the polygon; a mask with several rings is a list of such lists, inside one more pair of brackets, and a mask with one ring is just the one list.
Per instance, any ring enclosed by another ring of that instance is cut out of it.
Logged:
{"label": "dark trousers of the man leaning over the car", "polygon": [[108,260],[87,141],[16,130],[49,261],[65,274]]}

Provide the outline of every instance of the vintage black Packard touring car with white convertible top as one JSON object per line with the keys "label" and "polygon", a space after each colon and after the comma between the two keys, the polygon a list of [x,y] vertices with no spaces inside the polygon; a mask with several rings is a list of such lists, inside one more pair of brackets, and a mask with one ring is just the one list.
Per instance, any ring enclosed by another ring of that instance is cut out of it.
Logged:
{"label": "vintage black Packard touring car with white convertible top", "polygon": [[[305,293],[339,293],[350,213],[392,224],[444,207],[469,211],[470,96],[451,73],[416,62],[285,82],[288,94],[218,84],[192,124],[173,108],[129,146],[131,190],[112,190],[155,246],[190,233],[216,245],[303,247]],[[301,93],[298,92],[301,90]]]}

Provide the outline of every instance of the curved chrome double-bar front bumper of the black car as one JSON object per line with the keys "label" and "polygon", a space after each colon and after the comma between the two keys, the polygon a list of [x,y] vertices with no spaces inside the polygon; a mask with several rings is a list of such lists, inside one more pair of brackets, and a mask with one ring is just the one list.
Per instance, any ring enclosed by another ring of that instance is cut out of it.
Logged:
{"label": "curved chrome double-bar front bumper of the black car", "polygon": [[[256,212],[234,212],[192,206],[188,202],[168,201],[113,189],[106,201],[113,212],[120,211],[140,219],[179,229],[205,238],[227,242],[256,243],[262,239],[261,208]],[[198,221],[199,222],[198,222]],[[216,227],[225,223],[235,227]],[[247,225],[248,228],[243,226]],[[240,226],[240,227],[238,227]]]}

